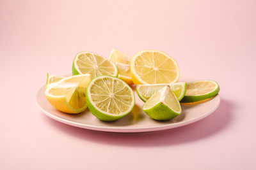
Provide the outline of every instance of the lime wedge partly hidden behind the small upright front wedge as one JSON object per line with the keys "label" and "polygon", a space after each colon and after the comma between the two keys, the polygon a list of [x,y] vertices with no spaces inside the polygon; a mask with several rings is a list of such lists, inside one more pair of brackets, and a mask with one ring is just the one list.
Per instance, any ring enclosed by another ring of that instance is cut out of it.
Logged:
{"label": "lime wedge partly hidden behind the small upright front wedge", "polygon": [[153,96],[158,90],[164,86],[170,85],[171,90],[179,101],[184,97],[186,93],[186,82],[172,83],[172,84],[153,84],[153,85],[136,85],[136,92],[140,99],[146,102],[151,96]]}

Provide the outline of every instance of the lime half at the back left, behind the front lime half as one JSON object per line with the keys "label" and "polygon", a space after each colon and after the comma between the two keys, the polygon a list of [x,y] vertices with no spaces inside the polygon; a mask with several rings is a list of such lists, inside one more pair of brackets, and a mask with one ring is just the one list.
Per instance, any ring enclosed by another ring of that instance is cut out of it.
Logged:
{"label": "lime half at the back left, behind the front lime half", "polygon": [[118,69],[111,60],[92,52],[77,53],[73,61],[72,72],[73,75],[89,73],[92,78],[100,75],[118,75]]}

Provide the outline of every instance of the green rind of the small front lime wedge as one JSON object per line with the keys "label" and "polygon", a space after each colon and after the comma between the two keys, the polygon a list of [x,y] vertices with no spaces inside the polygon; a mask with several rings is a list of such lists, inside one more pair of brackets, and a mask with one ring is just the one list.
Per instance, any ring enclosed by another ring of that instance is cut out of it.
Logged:
{"label": "green rind of the small front lime wedge", "polygon": [[147,113],[150,118],[154,120],[170,120],[171,118],[175,118],[180,115],[180,113],[176,113],[175,111],[171,110],[166,104],[159,102],[152,108],[148,108],[143,111]]}

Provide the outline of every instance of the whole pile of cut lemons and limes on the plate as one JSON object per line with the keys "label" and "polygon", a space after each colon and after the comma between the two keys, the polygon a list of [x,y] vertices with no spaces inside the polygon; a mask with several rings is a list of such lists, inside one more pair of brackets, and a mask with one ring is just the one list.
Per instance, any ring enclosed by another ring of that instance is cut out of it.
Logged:
{"label": "whole pile of cut lemons and limes on the plate", "polygon": [[130,57],[113,49],[109,59],[97,53],[77,53],[73,76],[47,75],[45,96],[54,108],[81,113],[87,106],[95,117],[118,120],[131,112],[134,92],[145,102],[143,111],[155,120],[169,120],[181,113],[180,103],[202,103],[216,96],[216,81],[179,82],[178,63],[159,50],[143,50]]}

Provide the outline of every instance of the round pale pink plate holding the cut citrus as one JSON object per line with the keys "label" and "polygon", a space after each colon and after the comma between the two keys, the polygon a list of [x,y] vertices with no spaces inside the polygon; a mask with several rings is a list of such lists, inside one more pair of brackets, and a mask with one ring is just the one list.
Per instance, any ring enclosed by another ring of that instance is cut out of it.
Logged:
{"label": "round pale pink plate holding the cut citrus", "polygon": [[[187,77],[182,78],[180,81],[189,82],[196,80],[195,78]],[[216,108],[218,108],[220,104],[220,96],[218,95],[205,103],[195,104],[193,106],[182,105],[182,114],[176,118],[173,118],[172,120],[156,121],[148,117],[147,114],[142,110],[144,103],[134,91],[136,97],[136,106],[138,106],[140,109],[138,118],[134,119],[132,113],[129,113],[129,115],[115,122],[103,122],[94,117],[88,109],[83,113],[76,115],[62,113],[61,111],[56,110],[47,101],[44,95],[44,90],[45,85],[42,86],[36,93],[35,102],[38,108],[45,113],[45,115],[64,124],[106,132],[150,132],[172,129],[175,127],[192,124],[193,122],[209,116],[214,112],[214,110],[216,110]]]}

